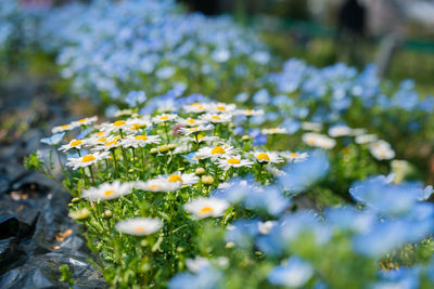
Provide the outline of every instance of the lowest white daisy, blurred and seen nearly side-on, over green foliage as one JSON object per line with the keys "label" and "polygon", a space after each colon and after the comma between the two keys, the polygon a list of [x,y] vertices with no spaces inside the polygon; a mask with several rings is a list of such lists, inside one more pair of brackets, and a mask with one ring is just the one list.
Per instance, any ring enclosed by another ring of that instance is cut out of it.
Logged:
{"label": "lowest white daisy, blurred and seen nearly side-on, over green foliage", "polygon": [[156,218],[133,218],[120,221],[115,225],[117,232],[135,236],[150,235],[162,227],[163,221]]}

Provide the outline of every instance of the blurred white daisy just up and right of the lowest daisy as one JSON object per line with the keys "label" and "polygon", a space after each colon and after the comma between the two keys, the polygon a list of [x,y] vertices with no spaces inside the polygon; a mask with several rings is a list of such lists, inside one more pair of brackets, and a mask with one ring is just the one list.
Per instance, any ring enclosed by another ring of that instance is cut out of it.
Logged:
{"label": "blurred white daisy just up and right of the lowest daisy", "polygon": [[183,209],[194,215],[195,219],[208,216],[218,218],[225,214],[229,202],[217,198],[196,198],[183,206]]}

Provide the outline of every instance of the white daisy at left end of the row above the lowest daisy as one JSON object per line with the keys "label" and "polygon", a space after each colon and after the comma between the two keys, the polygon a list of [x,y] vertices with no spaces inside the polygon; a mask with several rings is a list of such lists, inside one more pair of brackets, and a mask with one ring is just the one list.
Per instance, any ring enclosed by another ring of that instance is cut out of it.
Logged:
{"label": "white daisy at left end of the row above the lowest daisy", "polygon": [[131,183],[103,183],[99,187],[89,187],[81,193],[81,197],[89,200],[110,200],[116,199],[131,193]]}

